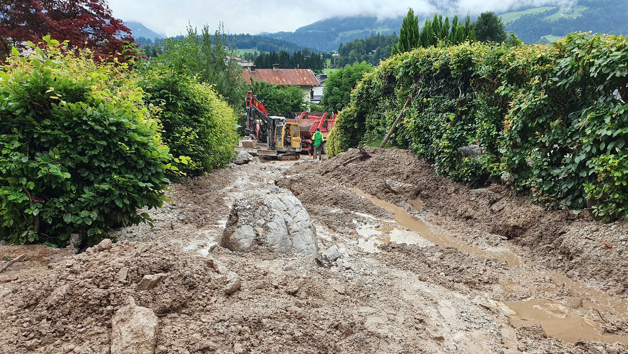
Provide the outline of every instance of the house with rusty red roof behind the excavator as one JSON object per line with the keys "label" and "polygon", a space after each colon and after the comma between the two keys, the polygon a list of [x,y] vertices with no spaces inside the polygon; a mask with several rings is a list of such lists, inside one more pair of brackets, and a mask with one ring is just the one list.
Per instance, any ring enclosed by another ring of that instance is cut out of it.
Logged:
{"label": "house with rusty red roof behind the excavator", "polygon": [[279,64],[274,64],[273,69],[256,69],[255,65],[251,65],[249,69],[242,71],[242,77],[247,85],[253,80],[266,81],[279,86],[299,86],[303,90],[303,101],[308,104],[308,107],[310,99],[314,96],[314,87],[320,86],[312,70],[279,69]]}

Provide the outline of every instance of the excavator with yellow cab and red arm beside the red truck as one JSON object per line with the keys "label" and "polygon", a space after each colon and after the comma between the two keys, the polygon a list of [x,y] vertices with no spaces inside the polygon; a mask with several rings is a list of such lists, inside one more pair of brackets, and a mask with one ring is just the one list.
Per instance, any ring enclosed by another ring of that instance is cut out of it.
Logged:
{"label": "excavator with yellow cab and red arm beside the red truck", "polygon": [[254,156],[298,160],[301,152],[299,124],[293,119],[269,116],[268,106],[253,96],[252,91],[247,92],[244,105],[247,139],[241,140],[242,148]]}

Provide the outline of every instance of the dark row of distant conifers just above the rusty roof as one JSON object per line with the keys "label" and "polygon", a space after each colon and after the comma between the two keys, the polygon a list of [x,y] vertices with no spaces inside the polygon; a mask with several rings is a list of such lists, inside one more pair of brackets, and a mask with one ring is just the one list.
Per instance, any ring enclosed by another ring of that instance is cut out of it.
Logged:
{"label": "dark row of distant conifers just above the rusty roof", "polygon": [[322,72],[325,67],[325,54],[313,53],[304,48],[290,55],[285,50],[279,52],[260,52],[253,59],[258,69],[273,69],[274,64],[279,64],[280,69],[311,69],[313,72]]}

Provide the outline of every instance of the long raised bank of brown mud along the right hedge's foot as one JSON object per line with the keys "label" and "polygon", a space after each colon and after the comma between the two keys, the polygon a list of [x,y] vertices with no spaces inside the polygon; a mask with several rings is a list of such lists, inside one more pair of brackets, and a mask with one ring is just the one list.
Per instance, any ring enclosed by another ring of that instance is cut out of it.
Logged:
{"label": "long raised bank of brown mud along the right hedge's foot", "polygon": [[[298,163],[277,183],[296,196],[302,191],[323,196],[317,200],[302,199],[310,214],[317,218],[323,218],[333,204],[341,201],[352,211],[382,216],[371,203],[345,187],[356,187],[384,201],[405,205],[408,210],[412,209],[406,201],[419,199],[425,202],[421,213],[458,221],[461,229],[482,230],[487,242],[492,243],[494,236],[498,236],[497,243],[486,246],[504,242],[501,238],[512,240],[528,250],[529,257],[542,267],[563,272],[574,280],[593,282],[609,294],[627,296],[625,221],[604,224],[586,213],[576,216],[566,211],[546,210],[526,196],[512,196],[500,184],[470,189],[436,175],[430,163],[408,150],[363,149],[370,155],[366,160],[360,158],[363,155],[360,150],[350,149],[322,163]],[[335,192],[328,193],[331,190]],[[362,208],[364,203],[371,206]],[[344,232],[350,228],[352,218],[340,216],[332,222],[332,227]]]}

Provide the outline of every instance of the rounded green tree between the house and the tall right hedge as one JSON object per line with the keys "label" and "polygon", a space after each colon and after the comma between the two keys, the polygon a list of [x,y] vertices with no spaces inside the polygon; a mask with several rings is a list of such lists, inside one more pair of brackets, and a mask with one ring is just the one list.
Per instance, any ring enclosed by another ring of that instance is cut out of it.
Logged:
{"label": "rounded green tree between the house and the tall right hedge", "polygon": [[329,112],[341,111],[349,104],[351,90],[362,79],[362,75],[373,69],[374,67],[366,62],[355,62],[329,74],[323,87],[321,105]]}

